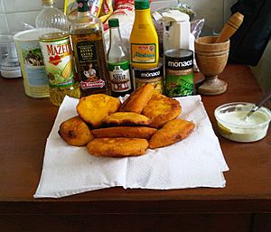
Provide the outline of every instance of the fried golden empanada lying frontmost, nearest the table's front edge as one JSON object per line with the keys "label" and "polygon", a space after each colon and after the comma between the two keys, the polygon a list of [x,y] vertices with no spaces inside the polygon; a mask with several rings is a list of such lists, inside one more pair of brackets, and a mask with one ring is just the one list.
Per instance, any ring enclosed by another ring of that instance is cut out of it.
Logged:
{"label": "fried golden empanada lying frontmost, nearest the table's front edge", "polygon": [[95,138],[87,145],[90,154],[118,157],[144,154],[147,147],[142,138]]}

